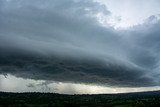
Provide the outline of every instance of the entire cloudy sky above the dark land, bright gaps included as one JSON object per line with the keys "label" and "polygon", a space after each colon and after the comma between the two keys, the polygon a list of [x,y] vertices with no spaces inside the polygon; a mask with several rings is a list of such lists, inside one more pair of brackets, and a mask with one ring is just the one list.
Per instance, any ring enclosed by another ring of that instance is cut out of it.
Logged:
{"label": "entire cloudy sky above the dark land, bright gaps included", "polygon": [[0,91],[160,89],[158,0],[0,0]]}

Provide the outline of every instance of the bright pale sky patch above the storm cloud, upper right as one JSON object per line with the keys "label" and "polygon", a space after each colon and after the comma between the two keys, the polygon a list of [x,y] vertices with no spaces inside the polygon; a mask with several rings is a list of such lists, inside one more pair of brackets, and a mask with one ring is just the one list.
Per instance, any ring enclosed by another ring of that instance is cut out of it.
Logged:
{"label": "bright pale sky patch above the storm cloud, upper right", "polygon": [[115,28],[128,28],[160,13],[159,0],[95,0],[107,7],[111,12],[110,19],[106,19]]}

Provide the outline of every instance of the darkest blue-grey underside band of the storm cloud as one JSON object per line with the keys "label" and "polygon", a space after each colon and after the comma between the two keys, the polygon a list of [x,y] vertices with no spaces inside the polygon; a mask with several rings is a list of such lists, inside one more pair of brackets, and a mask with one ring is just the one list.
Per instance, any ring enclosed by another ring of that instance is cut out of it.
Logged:
{"label": "darkest blue-grey underside band of the storm cloud", "polygon": [[143,69],[113,61],[20,55],[7,58],[1,58],[1,71],[18,77],[116,86],[155,85],[144,76]]}

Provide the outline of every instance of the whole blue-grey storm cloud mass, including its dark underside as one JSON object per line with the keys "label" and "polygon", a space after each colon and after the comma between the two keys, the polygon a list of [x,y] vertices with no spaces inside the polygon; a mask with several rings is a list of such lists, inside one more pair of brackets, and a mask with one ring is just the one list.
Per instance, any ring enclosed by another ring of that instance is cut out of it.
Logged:
{"label": "whole blue-grey storm cloud mass, including its dark underside", "polygon": [[106,17],[111,13],[90,0],[0,2],[1,74],[116,86],[160,85],[158,20],[148,27],[115,31],[96,18],[100,12]]}

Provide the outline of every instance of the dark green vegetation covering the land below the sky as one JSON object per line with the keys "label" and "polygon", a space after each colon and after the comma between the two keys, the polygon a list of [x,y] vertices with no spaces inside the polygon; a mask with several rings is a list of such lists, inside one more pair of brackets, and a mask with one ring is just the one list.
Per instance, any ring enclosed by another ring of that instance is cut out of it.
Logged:
{"label": "dark green vegetation covering the land below the sky", "polygon": [[160,107],[160,91],[99,95],[1,92],[0,107]]}

